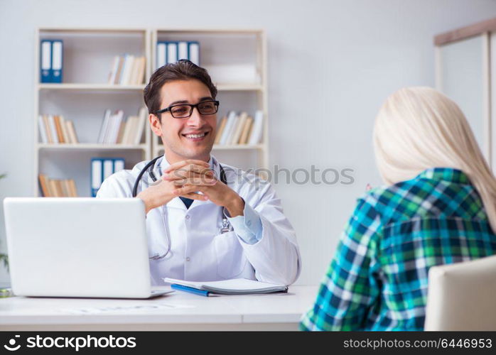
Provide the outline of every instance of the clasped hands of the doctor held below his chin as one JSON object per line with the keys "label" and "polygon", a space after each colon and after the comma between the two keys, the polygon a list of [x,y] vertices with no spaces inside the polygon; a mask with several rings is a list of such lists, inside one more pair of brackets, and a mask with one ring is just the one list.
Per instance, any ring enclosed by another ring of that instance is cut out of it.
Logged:
{"label": "clasped hands of the doctor held below his chin", "polygon": [[145,202],[146,213],[167,204],[174,197],[186,197],[191,200],[210,200],[225,207],[231,217],[243,214],[242,198],[217,180],[210,165],[203,160],[188,159],[173,163],[163,170],[159,181],[137,196]]}

